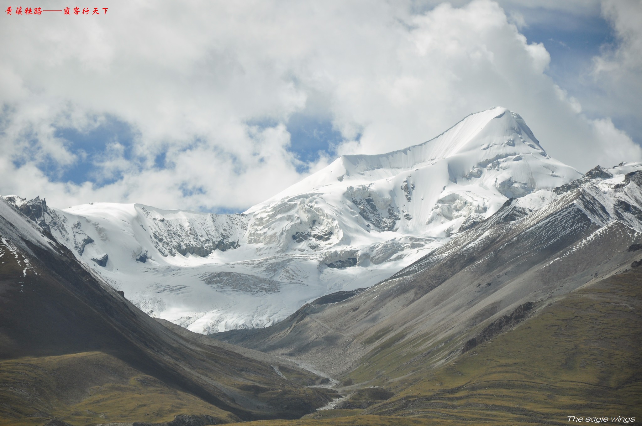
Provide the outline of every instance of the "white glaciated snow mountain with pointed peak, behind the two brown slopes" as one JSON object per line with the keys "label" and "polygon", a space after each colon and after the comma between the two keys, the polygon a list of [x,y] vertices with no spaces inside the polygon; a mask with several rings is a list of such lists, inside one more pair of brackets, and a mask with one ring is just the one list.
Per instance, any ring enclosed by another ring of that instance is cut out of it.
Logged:
{"label": "white glaciated snow mountain with pointed peak, behind the two brown slopes", "polygon": [[580,176],[519,115],[492,108],[423,144],[340,157],[243,214],[4,200],[143,311],[207,334],[264,327],[324,294],[376,284],[509,198]]}

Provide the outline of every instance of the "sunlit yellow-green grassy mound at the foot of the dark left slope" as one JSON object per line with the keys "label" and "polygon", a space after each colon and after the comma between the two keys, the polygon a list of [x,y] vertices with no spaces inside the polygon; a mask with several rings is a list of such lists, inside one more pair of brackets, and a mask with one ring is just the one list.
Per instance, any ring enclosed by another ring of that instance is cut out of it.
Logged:
{"label": "sunlit yellow-green grassy mound at the foot of the dark left slope", "polygon": [[0,425],[169,422],[176,414],[236,416],[101,352],[0,362]]}

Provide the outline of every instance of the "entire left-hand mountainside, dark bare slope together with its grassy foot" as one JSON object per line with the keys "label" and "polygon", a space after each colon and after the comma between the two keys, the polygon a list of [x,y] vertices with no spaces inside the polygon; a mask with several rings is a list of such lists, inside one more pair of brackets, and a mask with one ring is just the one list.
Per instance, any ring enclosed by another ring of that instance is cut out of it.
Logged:
{"label": "entire left-hand mountainside, dark bare slope together with its grassy foot", "polygon": [[0,200],[0,424],[200,426],[298,418],[331,400],[306,387],[327,379],[292,362],[164,327],[31,209]]}

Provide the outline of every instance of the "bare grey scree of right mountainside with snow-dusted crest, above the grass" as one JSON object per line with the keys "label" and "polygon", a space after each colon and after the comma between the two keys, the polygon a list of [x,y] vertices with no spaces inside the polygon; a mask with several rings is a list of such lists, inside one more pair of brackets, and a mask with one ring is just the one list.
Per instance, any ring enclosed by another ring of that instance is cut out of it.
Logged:
{"label": "bare grey scree of right mountainside with snow-dusted crest, above the grass", "polygon": [[[482,389],[488,394],[488,378],[492,375],[492,380],[496,379],[501,371],[498,364],[506,368],[503,371],[510,377],[510,388],[515,382],[532,383],[535,376],[531,367],[538,364],[537,357],[530,355],[530,365],[525,363],[527,372],[516,374],[512,361],[521,356],[519,352],[525,352],[523,341],[505,339],[502,344],[498,339],[497,345],[504,345],[502,351],[507,353],[495,352],[500,358],[494,359],[492,373],[478,376],[483,377],[479,386],[470,386],[470,377],[459,377],[471,369],[458,371],[456,365],[463,359],[458,357],[539,311],[548,315],[539,327],[550,330],[551,352],[559,345],[569,345],[553,366],[549,365],[549,354],[542,351],[539,357],[546,360],[540,364],[546,373],[538,377],[557,380],[557,371],[568,369],[568,354],[577,351],[578,359],[588,356],[587,346],[580,348],[578,342],[603,342],[604,336],[621,328],[612,327],[611,319],[605,318],[621,318],[623,309],[635,311],[629,303],[637,296],[623,289],[639,288],[642,283],[641,206],[642,163],[622,163],[609,169],[598,166],[553,190],[542,189],[507,200],[479,225],[353,297],[315,301],[272,327],[232,330],[214,338],[272,355],[295,357],[341,380],[364,380],[354,384],[355,388],[376,384],[394,389],[410,383],[423,387],[429,381],[426,377],[439,383],[435,380],[439,376],[433,374],[440,366],[447,366],[448,373],[439,378],[456,377],[457,389],[466,383],[466,392]],[[627,272],[631,273],[621,275]],[[610,293],[607,298],[596,300],[591,291],[571,296],[581,287],[586,289],[609,277],[614,278],[611,289],[598,290]],[[566,330],[559,327],[570,323],[567,321],[571,318],[581,318],[576,317],[580,310],[567,304],[573,297],[586,301],[584,311],[595,309],[594,314],[584,317],[590,330],[584,335],[578,334],[577,325]],[[548,310],[551,305],[557,306]],[[559,321],[557,326],[551,325],[553,318]],[[639,323],[632,317],[629,320]],[[535,330],[536,326],[526,324],[521,328],[532,339],[531,347],[542,347],[544,334]],[[613,340],[610,346],[614,351],[621,351],[621,342],[639,338],[630,330],[624,336]],[[591,345],[596,353],[606,347],[603,343]],[[470,356],[474,355],[483,356],[481,352]],[[619,368],[632,362],[631,357],[620,359]],[[477,368],[484,368],[487,360],[476,364]],[[589,361],[574,362],[573,368],[584,371]],[[408,380],[422,368],[421,379]],[[553,370],[556,372],[551,374]],[[598,371],[602,374],[602,366]],[[636,370],[630,371],[634,374]],[[627,386],[629,380],[634,379],[627,379]],[[445,393],[440,385],[437,395],[447,395],[446,405],[453,402],[456,391]],[[539,384],[537,387],[541,389]],[[523,391],[520,386],[519,398],[525,395]],[[404,394],[412,398],[405,407],[413,413],[419,407],[434,413],[435,394],[430,398]],[[458,394],[455,399],[461,397]],[[510,404],[511,409],[514,406]]]}

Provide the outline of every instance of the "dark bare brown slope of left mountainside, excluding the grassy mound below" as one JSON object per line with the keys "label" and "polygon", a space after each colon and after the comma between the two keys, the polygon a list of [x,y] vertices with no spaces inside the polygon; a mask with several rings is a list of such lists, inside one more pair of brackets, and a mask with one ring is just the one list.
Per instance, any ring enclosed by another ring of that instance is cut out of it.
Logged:
{"label": "dark bare brown slope of left mountainside, excluding the grassy mound below", "polygon": [[[92,276],[26,217],[0,203],[0,359],[29,357],[37,366],[33,359],[100,352],[166,389],[192,395],[215,412],[227,412],[227,421],[296,418],[329,400],[323,391],[284,379],[270,364],[171,332]],[[62,367],[56,371],[63,379],[67,374]],[[74,382],[73,376],[67,379]],[[12,391],[15,377],[3,375],[0,381],[0,389],[15,402],[20,396]],[[76,390],[87,395],[94,385],[90,381]],[[29,380],[21,386],[30,388]],[[29,393],[23,396],[20,404],[3,405],[0,416],[44,416],[60,409],[52,400],[44,405],[51,405],[50,412],[35,406],[29,412],[35,399]]]}

